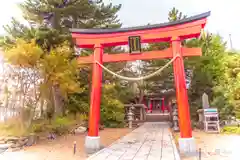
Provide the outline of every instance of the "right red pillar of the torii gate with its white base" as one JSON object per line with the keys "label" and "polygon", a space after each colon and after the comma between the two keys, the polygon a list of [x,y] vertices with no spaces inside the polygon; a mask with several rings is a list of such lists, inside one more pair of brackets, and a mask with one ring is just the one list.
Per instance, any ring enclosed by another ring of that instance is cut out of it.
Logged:
{"label": "right red pillar of the torii gate with its white base", "polygon": [[[191,117],[188,103],[188,94],[185,79],[184,62],[182,56],[181,39],[172,37],[171,45],[173,54],[180,56],[173,62],[176,99],[178,105],[178,117],[180,127],[179,148],[181,152],[195,152],[195,140],[192,137]],[[186,147],[187,146],[187,147]]]}

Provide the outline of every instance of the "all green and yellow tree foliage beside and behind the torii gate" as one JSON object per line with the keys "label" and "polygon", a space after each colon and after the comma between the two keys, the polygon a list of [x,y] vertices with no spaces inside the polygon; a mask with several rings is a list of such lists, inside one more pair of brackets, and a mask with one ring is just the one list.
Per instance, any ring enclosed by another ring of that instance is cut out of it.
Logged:
{"label": "all green and yellow tree foliage beside and behind the torii gate", "polygon": [[[61,7],[59,7],[61,6]],[[7,62],[22,68],[39,71],[43,79],[40,86],[41,97],[52,101],[55,88],[60,89],[65,98],[65,106],[71,114],[78,112],[84,115],[89,112],[89,93],[91,68],[78,68],[73,59],[74,49],[69,28],[117,28],[120,27],[116,16],[121,5],[105,5],[101,0],[89,3],[88,0],[70,0],[67,3],[59,0],[26,0],[20,5],[24,17],[31,24],[27,27],[16,19],[5,26],[8,36],[1,37],[0,45],[6,50]],[[51,16],[53,15],[53,16]],[[44,17],[49,16],[48,19]],[[70,18],[72,20],[67,20]],[[182,12],[173,8],[168,15],[170,22],[186,18]],[[211,106],[217,107],[221,118],[235,114],[240,118],[240,57],[236,52],[226,51],[225,42],[219,35],[204,33],[199,39],[184,41],[187,47],[201,47],[202,57],[185,58],[185,71],[190,81],[189,99],[191,113],[196,118],[196,110],[201,107],[201,95],[208,93]],[[163,50],[170,47],[169,43],[150,44],[147,50]],[[119,52],[119,48],[107,48],[107,52]],[[92,54],[85,50],[84,54]],[[166,64],[168,60],[143,62],[142,74],[149,74]],[[119,71],[126,63],[108,64],[111,70]],[[80,74],[79,74],[80,71]],[[136,75],[136,73],[124,73]],[[116,80],[104,72],[105,84],[101,101],[101,123],[107,127],[124,125],[124,106],[134,99],[136,94],[131,91],[128,82]],[[158,87],[154,87],[158,86]],[[138,83],[141,94],[162,93],[174,89],[172,66],[161,75],[146,82]],[[53,104],[49,104],[51,106]],[[51,108],[52,109],[52,108]],[[86,117],[85,117],[86,119]],[[45,125],[45,124],[44,124]],[[54,132],[65,132],[68,120],[57,118],[53,121]],[[42,125],[33,127],[40,132]],[[44,128],[44,127],[43,127]]]}

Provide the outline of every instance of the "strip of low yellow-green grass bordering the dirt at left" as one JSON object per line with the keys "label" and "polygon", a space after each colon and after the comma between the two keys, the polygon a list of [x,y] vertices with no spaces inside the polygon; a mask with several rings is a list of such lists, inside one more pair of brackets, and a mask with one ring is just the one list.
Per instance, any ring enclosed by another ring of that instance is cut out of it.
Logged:
{"label": "strip of low yellow-green grass bordering the dirt at left", "polygon": [[6,123],[0,124],[0,136],[28,136],[30,134],[55,133],[63,135],[69,133],[76,125],[83,124],[86,120],[84,115],[56,117],[49,121],[39,119],[32,121],[30,127],[26,127],[17,117],[9,119]]}

